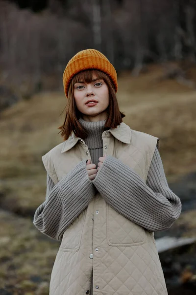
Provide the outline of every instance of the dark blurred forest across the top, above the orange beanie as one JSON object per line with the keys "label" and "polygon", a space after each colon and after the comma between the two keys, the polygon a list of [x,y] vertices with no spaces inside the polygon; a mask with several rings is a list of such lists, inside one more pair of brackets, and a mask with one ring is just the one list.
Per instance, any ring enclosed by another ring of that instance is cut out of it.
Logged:
{"label": "dark blurred forest across the top, above the orange beanie", "polygon": [[40,85],[43,76],[59,79],[85,48],[134,75],[149,61],[195,62],[196,1],[0,0],[1,80]]}

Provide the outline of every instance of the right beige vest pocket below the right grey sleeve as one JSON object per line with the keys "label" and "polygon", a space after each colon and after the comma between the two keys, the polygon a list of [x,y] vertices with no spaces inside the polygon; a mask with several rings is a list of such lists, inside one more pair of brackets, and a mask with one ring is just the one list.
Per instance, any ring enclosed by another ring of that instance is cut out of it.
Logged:
{"label": "right beige vest pocket below the right grey sleeve", "polygon": [[107,242],[110,246],[137,246],[147,242],[143,227],[130,221],[107,204]]}

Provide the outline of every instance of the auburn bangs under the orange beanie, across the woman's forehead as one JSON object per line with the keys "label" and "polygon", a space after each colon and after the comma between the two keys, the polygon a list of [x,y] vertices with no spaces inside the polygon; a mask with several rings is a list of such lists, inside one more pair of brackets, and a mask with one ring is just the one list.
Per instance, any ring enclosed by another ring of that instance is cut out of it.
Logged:
{"label": "auburn bangs under the orange beanie, across the woman's forehead", "polygon": [[94,79],[94,76],[96,76],[97,79],[102,79],[102,80],[106,80],[106,74],[99,71],[99,70],[96,70],[96,69],[90,69],[90,70],[84,70],[82,72],[79,72],[78,74],[76,74],[74,77],[73,77],[73,85],[75,83],[78,83],[78,82],[85,82],[85,83],[91,83]]}

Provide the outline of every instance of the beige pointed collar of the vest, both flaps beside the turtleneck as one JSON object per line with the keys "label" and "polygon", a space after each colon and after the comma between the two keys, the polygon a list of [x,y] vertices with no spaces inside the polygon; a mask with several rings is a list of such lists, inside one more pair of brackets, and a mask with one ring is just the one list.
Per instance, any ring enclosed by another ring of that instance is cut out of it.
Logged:
{"label": "beige pointed collar of the vest, both flaps beside the turtleneck", "polygon": [[[130,144],[131,142],[131,129],[128,125],[125,123],[121,123],[118,125],[116,128],[109,129],[108,130],[116,139],[119,141],[125,143],[125,144]],[[68,151],[69,149],[73,148],[78,140],[82,140],[81,138],[75,136],[75,134],[72,132],[68,140],[66,140],[63,144],[63,148],[61,152]]]}

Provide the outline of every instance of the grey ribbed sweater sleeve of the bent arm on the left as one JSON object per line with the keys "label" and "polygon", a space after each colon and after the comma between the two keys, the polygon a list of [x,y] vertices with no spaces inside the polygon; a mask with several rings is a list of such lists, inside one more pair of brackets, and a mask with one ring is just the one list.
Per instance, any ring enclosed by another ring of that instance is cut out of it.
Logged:
{"label": "grey ribbed sweater sleeve of the bent arm on the left", "polygon": [[86,171],[86,160],[78,163],[56,185],[47,176],[45,202],[35,211],[33,223],[43,234],[61,240],[74,219],[88,206],[95,187]]}

